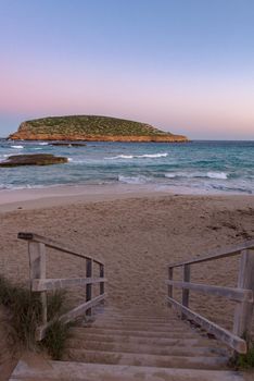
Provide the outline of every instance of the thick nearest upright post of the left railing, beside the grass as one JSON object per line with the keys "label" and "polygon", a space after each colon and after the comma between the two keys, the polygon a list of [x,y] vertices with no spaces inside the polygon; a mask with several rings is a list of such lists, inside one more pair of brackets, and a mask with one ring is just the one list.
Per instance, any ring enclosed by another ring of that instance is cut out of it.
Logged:
{"label": "thick nearest upright post of the left railing, beside the grass", "polygon": [[[46,248],[45,244],[28,242],[30,287],[34,279],[46,279]],[[41,299],[41,323],[47,323],[47,292],[40,293]]]}

